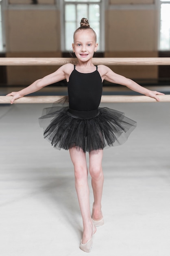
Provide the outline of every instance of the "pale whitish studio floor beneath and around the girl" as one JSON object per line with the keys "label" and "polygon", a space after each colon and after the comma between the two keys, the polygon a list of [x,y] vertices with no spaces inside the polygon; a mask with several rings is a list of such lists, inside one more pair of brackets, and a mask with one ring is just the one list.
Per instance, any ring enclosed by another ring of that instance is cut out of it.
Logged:
{"label": "pale whitish studio floor beneath and around the girl", "polygon": [[[124,145],[104,150],[105,225],[98,227],[90,254],[169,256],[170,104],[107,106],[136,120],[137,128]],[[44,107],[0,106],[2,256],[87,255],[79,249],[72,163],[67,151],[43,139],[37,119]]]}

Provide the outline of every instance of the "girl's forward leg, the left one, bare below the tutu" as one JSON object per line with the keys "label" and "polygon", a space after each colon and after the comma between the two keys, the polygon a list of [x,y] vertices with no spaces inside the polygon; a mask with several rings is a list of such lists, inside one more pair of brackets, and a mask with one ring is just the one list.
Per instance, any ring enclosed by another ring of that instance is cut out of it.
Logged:
{"label": "girl's forward leg, the left one, bare below the tutu", "polygon": [[96,231],[96,227],[94,227],[92,223],[92,218],[90,214],[86,155],[81,148],[80,150],[77,150],[76,147],[70,148],[69,152],[72,163],[74,165],[75,187],[78,196],[78,202],[80,205],[81,215],[83,218],[82,244],[85,244],[89,239],[92,238],[92,235]]}

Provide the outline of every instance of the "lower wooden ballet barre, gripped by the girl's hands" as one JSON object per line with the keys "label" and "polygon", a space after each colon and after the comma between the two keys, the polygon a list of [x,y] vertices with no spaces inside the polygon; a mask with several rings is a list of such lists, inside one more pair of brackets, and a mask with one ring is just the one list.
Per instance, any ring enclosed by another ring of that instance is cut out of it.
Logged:
{"label": "lower wooden ballet barre, gripped by the girl's hands", "polygon": [[[25,96],[14,101],[14,103],[54,103],[64,96]],[[170,102],[170,95],[158,95],[161,102]],[[12,96],[0,96],[0,104],[8,104]],[[103,95],[102,103],[118,103],[118,102],[157,102],[156,99],[148,96],[131,96],[131,95]]]}

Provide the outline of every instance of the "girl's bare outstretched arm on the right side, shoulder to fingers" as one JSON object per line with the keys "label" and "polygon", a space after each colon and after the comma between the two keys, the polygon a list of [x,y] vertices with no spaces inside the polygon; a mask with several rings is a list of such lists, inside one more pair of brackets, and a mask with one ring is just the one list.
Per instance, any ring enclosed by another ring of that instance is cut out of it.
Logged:
{"label": "girl's bare outstretched arm on the right side, shoulder to fingers", "polygon": [[142,87],[141,85],[135,83],[133,80],[128,79],[119,74],[116,74],[109,67],[104,66],[104,65],[101,65],[101,66],[102,66],[102,68],[101,68],[102,79],[105,79],[111,83],[118,83],[120,85],[125,85],[126,87],[128,87],[129,89],[131,89],[135,92],[139,92],[146,96],[155,98],[157,101],[160,101],[160,99],[157,95],[163,95],[163,93],[148,90],[148,89]]}

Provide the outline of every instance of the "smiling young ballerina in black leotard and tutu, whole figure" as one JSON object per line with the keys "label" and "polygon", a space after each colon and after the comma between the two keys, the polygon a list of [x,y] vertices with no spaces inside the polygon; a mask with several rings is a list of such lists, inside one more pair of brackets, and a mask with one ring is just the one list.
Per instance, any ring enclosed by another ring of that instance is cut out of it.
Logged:
{"label": "smiling young ballerina in black leotard and tutu, whole figure", "polygon": [[[44,137],[56,148],[69,150],[74,165],[75,187],[83,218],[83,236],[80,248],[90,252],[92,236],[96,227],[104,224],[101,211],[102,187],[102,155],[105,146],[115,146],[126,141],[136,122],[124,117],[122,112],[109,108],[99,108],[102,95],[102,81],[125,85],[131,90],[145,94],[159,101],[156,91],[150,91],[131,79],[114,73],[105,65],[94,66],[92,58],[96,52],[96,33],[89,26],[88,20],[81,20],[81,27],[74,32],[73,52],[77,64],[65,64],[56,72],[32,83],[19,92],[11,92],[7,96],[15,99],[36,92],[46,85],[66,79],[68,82],[69,106],[54,110],[48,108],[41,119],[53,117],[44,131]],[[122,136],[124,135],[124,136]],[[89,186],[87,182],[87,162],[85,153],[89,152],[89,174],[92,177],[94,203],[92,216],[89,203]]]}

